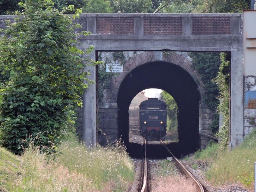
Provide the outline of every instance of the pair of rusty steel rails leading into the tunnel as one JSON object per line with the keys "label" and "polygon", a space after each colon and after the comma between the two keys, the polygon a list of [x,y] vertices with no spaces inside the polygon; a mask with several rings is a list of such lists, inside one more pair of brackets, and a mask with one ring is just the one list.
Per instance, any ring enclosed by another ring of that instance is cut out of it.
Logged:
{"label": "pair of rusty steel rails leading into the tunnel", "polygon": [[[188,169],[172,154],[172,152],[165,146],[164,142],[160,140],[161,144],[171,153],[174,161],[177,163],[177,165],[180,167],[181,170],[198,186],[200,189],[200,192],[205,192],[203,186],[200,184],[200,182],[188,171]],[[144,165],[143,165],[143,182],[142,182],[142,187],[140,187],[140,192],[147,192],[147,186],[148,186],[148,165],[147,165],[147,140],[145,139],[145,159],[144,159]]]}

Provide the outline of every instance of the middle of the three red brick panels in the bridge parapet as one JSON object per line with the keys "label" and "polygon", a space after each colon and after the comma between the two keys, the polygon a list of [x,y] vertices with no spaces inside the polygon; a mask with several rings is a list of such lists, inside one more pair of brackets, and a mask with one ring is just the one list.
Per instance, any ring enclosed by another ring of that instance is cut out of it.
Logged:
{"label": "middle of the three red brick panels in the bridge parapet", "polygon": [[144,17],[144,35],[182,35],[181,17]]}

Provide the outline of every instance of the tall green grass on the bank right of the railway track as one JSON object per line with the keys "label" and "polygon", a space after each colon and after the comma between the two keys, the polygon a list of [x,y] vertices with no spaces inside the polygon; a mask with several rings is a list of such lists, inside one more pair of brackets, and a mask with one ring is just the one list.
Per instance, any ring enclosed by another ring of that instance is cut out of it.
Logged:
{"label": "tall green grass on the bank right of the railway track", "polygon": [[196,154],[202,160],[212,160],[206,172],[213,185],[241,182],[246,188],[253,187],[254,162],[256,162],[256,129],[231,152],[215,144]]}

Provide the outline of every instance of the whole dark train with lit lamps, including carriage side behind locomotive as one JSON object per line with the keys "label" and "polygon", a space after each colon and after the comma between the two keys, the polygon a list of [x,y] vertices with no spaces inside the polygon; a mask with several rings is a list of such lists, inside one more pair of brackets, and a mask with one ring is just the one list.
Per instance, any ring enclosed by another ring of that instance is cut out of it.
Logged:
{"label": "whole dark train with lit lamps, including carriage side behind locomotive", "polygon": [[147,138],[156,136],[161,139],[166,135],[167,111],[164,101],[149,98],[142,101],[140,106],[129,107],[129,129],[140,132]]}

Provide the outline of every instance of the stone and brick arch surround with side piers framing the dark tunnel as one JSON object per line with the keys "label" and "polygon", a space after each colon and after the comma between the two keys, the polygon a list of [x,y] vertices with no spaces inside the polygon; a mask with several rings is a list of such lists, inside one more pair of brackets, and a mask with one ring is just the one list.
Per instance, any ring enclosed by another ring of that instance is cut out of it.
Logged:
{"label": "stone and brick arch surround with side piers framing the dark tunnel", "polygon": [[[193,68],[192,62],[188,58],[185,58],[175,52],[165,52],[164,54],[162,52],[144,52],[142,54],[136,55],[135,57],[126,61],[123,67],[123,73],[120,73],[118,76],[111,79],[110,88],[105,94],[104,103],[99,104],[99,128],[102,130],[102,132],[106,133],[112,141],[120,136],[120,133],[118,133],[119,128],[117,122],[117,97],[121,83],[127,76],[131,75],[132,70],[135,68],[140,67],[146,63],[159,61],[177,65],[187,71],[187,73],[194,79],[194,83],[196,83],[200,93],[201,101],[203,101],[204,82],[201,80],[201,75],[197,73],[195,68]],[[205,118],[202,119],[201,130],[205,134],[211,134],[210,124],[213,119],[212,111],[207,109],[204,104],[201,104],[200,106],[202,108],[201,118]],[[101,135],[100,138],[101,139],[99,142],[102,145],[105,145],[107,140],[106,137]],[[199,140],[200,147],[205,148],[208,143],[208,138],[205,136],[200,136]]]}

